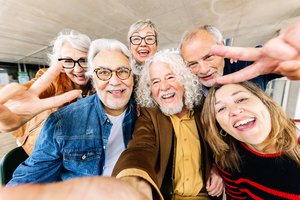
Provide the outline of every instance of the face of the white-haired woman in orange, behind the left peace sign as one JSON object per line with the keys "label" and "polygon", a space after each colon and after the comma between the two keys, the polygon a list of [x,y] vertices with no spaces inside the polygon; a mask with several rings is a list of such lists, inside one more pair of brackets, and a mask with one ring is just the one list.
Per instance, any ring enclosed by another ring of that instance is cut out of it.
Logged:
{"label": "face of the white-haired woman in orange, behind the left peace sign", "polygon": [[[64,62],[72,62],[72,60],[77,61],[82,58],[83,60],[87,59],[87,52],[80,51],[71,46],[70,43],[66,42],[61,49],[61,58],[66,58],[65,61],[60,61],[63,65]],[[71,60],[72,59],[72,60]],[[85,62],[87,64],[87,62]],[[75,67],[72,69],[63,69],[66,75],[74,82],[76,88],[80,86],[85,86],[88,82],[88,78],[84,75],[86,69],[80,67],[78,63],[75,64]]]}

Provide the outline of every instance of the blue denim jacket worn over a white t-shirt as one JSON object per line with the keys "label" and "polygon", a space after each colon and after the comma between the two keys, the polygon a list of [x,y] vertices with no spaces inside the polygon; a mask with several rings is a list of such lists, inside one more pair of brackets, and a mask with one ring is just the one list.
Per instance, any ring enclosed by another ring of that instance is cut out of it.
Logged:
{"label": "blue denim jacket worn over a white t-shirt", "polygon": [[[123,120],[125,147],[131,140],[135,119],[131,99]],[[101,175],[111,127],[97,94],[52,113],[31,156],[16,169],[8,185]]]}

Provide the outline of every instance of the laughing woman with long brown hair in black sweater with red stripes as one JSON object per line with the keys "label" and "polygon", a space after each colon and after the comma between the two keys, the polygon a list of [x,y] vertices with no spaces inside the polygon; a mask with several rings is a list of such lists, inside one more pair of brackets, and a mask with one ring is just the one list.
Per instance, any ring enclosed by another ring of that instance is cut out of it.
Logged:
{"label": "laughing woman with long brown hair in black sweater with red stripes", "polygon": [[201,115],[228,199],[300,199],[294,122],[249,82],[216,85]]}

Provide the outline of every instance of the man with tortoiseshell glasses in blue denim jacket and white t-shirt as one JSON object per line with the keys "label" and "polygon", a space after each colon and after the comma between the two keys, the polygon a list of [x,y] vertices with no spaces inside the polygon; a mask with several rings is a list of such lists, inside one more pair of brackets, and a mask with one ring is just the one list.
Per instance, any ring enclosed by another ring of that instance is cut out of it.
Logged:
{"label": "man with tortoiseshell glasses in blue denim jacket and white t-shirt", "polygon": [[119,41],[98,39],[90,46],[88,63],[96,94],[50,115],[31,156],[8,185],[111,175],[136,119],[130,52]]}

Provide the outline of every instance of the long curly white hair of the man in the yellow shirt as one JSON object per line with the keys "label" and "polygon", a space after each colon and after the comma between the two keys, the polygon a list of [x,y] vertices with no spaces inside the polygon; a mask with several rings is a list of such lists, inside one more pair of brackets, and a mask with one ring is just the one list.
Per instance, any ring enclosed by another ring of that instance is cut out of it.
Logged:
{"label": "long curly white hair of the man in the yellow shirt", "polygon": [[176,79],[184,87],[184,105],[193,109],[200,104],[202,98],[202,85],[198,78],[185,66],[180,55],[171,52],[157,52],[142,67],[138,86],[136,88],[136,101],[142,107],[157,107],[157,103],[151,97],[150,68],[154,63],[166,63],[176,76]]}

